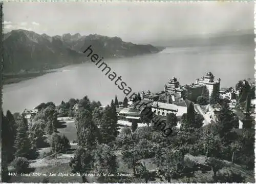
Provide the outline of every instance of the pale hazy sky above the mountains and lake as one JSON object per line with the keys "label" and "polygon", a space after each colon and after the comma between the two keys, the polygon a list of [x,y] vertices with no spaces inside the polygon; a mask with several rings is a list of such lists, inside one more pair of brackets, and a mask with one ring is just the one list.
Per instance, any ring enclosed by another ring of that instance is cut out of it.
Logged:
{"label": "pale hazy sky above the mountains and lake", "polygon": [[145,43],[254,28],[253,2],[5,2],[4,32],[118,36]]}

